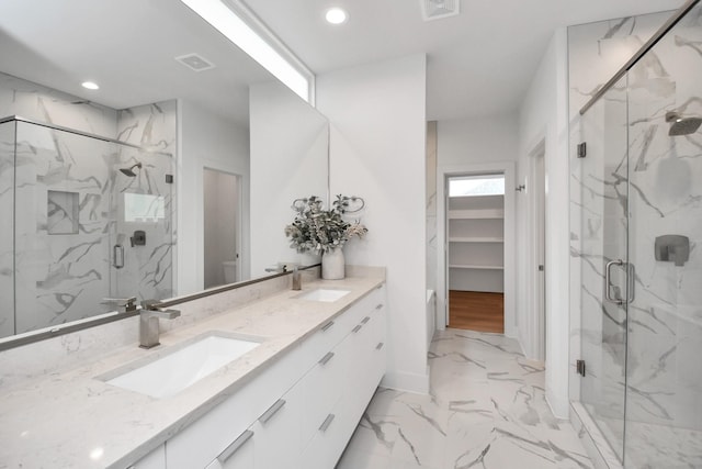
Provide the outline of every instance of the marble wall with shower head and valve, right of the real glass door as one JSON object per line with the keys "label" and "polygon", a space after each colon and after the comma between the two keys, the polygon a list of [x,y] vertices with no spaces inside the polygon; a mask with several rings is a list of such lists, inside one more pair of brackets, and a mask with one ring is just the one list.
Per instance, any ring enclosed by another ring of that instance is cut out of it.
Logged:
{"label": "marble wall with shower head and valve, right of the real glass door", "polygon": [[[675,467],[702,466],[702,132],[669,136],[666,113],[702,118],[701,45],[697,7],[629,72],[629,250],[636,299],[629,310],[626,418],[634,432],[660,428]],[[687,236],[689,260],[656,260],[663,235]],[[626,437],[630,460],[673,467],[650,447],[643,433]]]}

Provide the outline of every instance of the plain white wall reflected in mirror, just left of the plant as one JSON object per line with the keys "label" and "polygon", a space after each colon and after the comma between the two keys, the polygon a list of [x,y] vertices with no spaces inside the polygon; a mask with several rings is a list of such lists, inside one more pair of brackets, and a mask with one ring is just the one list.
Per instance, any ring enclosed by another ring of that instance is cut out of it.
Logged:
{"label": "plain white wall reflected in mirror, just left of the plant", "polygon": [[251,275],[283,264],[316,264],[285,237],[295,217],[293,201],[327,198],[327,120],[282,83],[251,86]]}

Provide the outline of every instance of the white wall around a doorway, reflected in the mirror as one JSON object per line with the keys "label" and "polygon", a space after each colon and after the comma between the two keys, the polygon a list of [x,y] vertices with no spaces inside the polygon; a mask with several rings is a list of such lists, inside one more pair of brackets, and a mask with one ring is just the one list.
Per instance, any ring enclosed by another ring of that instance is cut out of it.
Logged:
{"label": "white wall around a doorway, reflected in the mirror", "polygon": [[246,129],[179,100],[178,294],[204,286],[203,168],[241,176],[241,272],[249,273],[249,135]]}

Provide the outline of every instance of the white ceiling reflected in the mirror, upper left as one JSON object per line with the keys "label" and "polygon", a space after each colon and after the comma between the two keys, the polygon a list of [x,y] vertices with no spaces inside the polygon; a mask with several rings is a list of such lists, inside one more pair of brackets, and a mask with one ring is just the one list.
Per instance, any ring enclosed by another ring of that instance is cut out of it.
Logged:
{"label": "white ceiling reflected in the mirror, upper left", "polygon": [[[176,60],[191,53],[216,67]],[[248,86],[273,80],[176,0],[0,1],[0,71],[113,109],[185,99],[244,127]]]}

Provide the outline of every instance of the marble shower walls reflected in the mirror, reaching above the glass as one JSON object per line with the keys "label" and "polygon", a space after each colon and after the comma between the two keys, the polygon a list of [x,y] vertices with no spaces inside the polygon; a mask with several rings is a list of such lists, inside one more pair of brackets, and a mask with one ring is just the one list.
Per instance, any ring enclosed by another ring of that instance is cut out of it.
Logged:
{"label": "marble shower walls reflected in the mirror, reaching above the glass", "polygon": [[[166,175],[174,177],[177,101],[116,111],[0,74],[0,104],[146,148],[20,122],[15,163],[14,130],[5,129],[15,124],[0,127],[0,205],[16,211],[16,256],[12,225],[0,228],[0,294],[12,299],[14,289],[18,312],[15,324],[14,309],[3,309],[0,337],[112,311],[101,304],[107,297],[172,297],[176,209]],[[136,177],[118,171],[136,161]],[[149,204],[150,212],[133,213]],[[136,230],[146,232],[145,246],[131,246]],[[116,244],[122,269],[111,266]]]}

